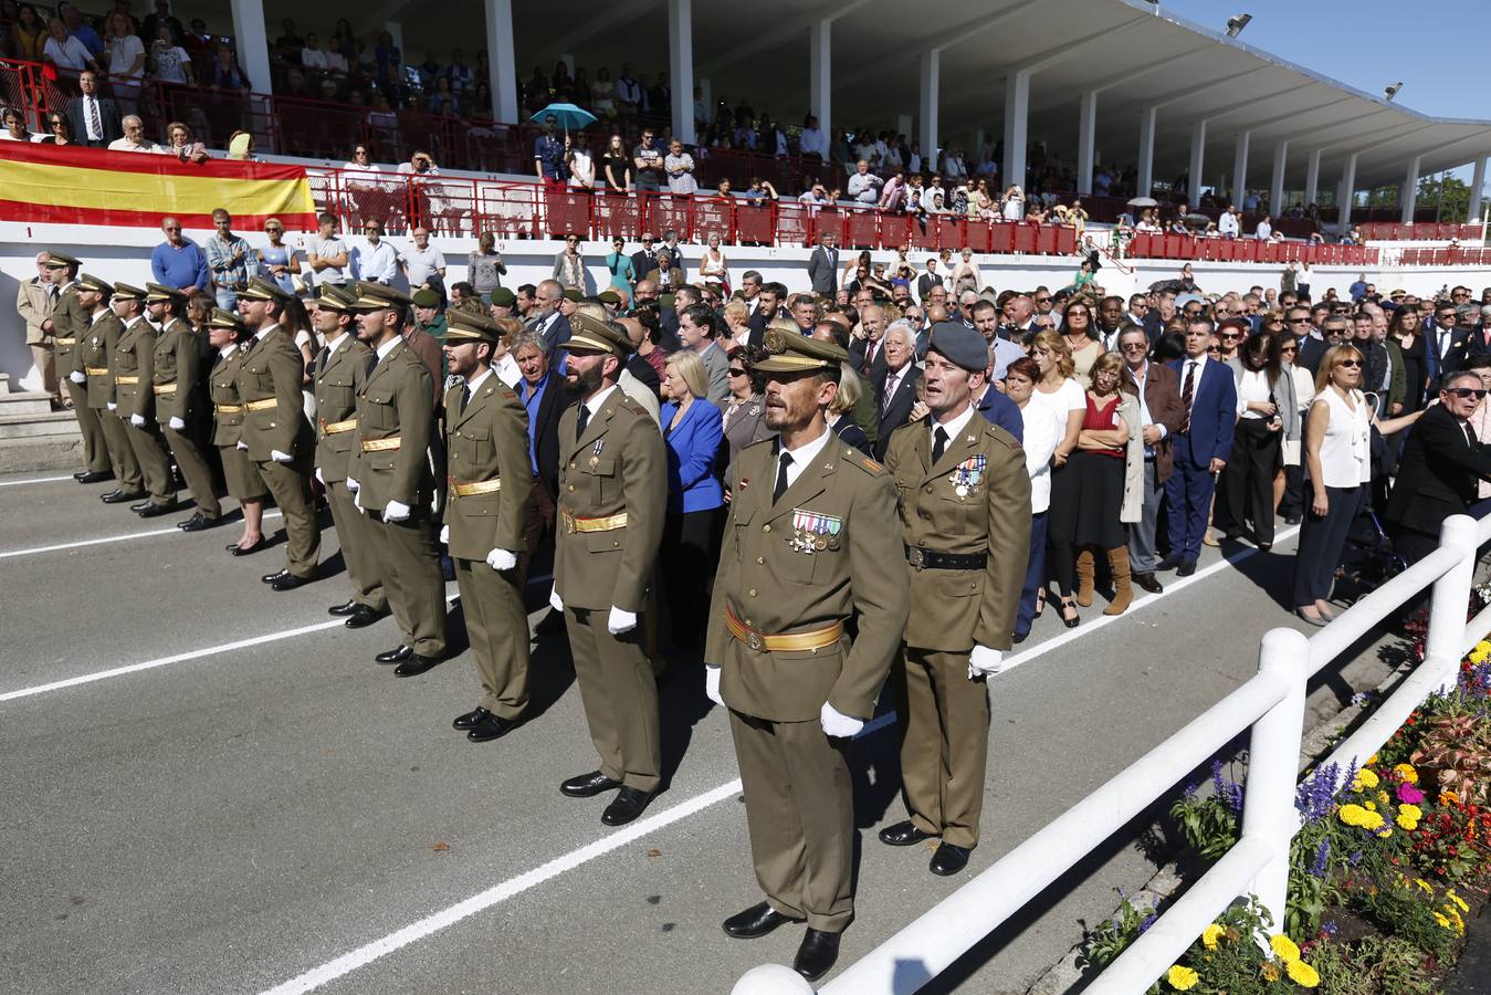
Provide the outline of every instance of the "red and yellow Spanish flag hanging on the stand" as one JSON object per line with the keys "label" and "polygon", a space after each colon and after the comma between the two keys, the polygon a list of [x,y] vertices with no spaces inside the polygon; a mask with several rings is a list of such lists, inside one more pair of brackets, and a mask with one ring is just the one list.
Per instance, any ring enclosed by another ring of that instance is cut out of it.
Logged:
{"label": "red and yellow Spanish flag hanging on the stand", "polygon": [[261,228],[265,218],[292,231],[316,227],[300,166],[0,142],[0,221],[157,228],[171,216],[210,228],[225,207],[236,228]]}

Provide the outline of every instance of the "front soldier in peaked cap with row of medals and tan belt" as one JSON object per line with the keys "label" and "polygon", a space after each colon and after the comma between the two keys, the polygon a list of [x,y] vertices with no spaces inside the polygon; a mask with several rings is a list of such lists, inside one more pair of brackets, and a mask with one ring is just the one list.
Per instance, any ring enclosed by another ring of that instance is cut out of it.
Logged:
{"label": "front soldier in peaked cap with row of medals and tan belt", "polygon": [[[756,880],[766,901],[735,938],[807,922],[793,968],[813,980],[854,916],[854,804],[845,753],[907,625],[890,474],[828,427],[838,345],[769,328],[766,425],[741,451],[705,643],[708,697],[731,710]],[[859,615],[850,646],[845,622]]]}

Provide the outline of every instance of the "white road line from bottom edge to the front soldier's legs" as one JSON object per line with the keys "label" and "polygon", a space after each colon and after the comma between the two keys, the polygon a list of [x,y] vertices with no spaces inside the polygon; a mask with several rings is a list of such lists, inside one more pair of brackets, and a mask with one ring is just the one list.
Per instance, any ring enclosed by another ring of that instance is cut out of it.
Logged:
{"label": "white road line from bottom edge to the front soldier's legs", "polygon": [[486,889],[485,892],[476,894],[462,903],[443,908],[431,916],[425,916],[417,922],[413,922],[403,929],[380,937],[373,943],[364,944],[350,953],[344,953],[335,961],[328,961],[321,967],[312,968],[298,977],[279,985],[277,988],[268,989],[264,995],[297,995],[298,992],[309,992],[312,989],[321,988],[322,985],[332,982],[344,974],[350,974],[361,967],[371,964],[373,961],[386,956],[401,947],[407,947],[410,943],[423,940],[425,937],[452,926],[462,919],[474,916],[479,911],[485,911],[492,905],[501,904],[514,895],[520,895],[531,888],[537,888],[544,882],[571,871],[581,864],[587,864],[599,856],[605,856],[613,850],[619,850],[629,843],[635,843],[650,832],[656,832],[663,826],[668,826],[681,819],[699,813],[710,806],[725,801],[741,791],[741,782],[732,780],[729,783],[720,785],[702,795],[695,795],[687,801],[681,801],[672,809],[659,812],[655,816],[635,822],[631,826],[622,829],[620,832],[613,832],[605,838],[596,840],[587,846],[577,850],[570,850],[562,856],[535,867],[526,874],[519,874],[517,877],[510,877],[501,885]]}

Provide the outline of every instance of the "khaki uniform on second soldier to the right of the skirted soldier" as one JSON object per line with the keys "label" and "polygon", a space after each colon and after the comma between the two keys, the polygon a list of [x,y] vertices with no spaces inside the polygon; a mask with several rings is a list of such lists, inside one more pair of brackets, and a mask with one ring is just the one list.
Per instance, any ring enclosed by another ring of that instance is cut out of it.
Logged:
{"label": "khaki uniform on second soldier to the right of the skirted soldier", "polygon": [[335,346],[316,357],[316,473],[327,488],[327,504],[337,527],[337,543],[352,580],[352,600],[379,615],[388,610],[383,571],[379,568],[373,524],[347,491],[347,464],[356,436],[358,394],[373,365],[373,351],[347,331]]}

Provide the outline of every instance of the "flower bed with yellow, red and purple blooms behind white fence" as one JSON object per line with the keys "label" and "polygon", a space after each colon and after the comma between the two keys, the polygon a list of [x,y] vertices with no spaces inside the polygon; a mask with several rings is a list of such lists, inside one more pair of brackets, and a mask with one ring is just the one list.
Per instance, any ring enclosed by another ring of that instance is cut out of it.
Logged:
{"label": "flower bed with yellow, red and purple blooms behind white fence", "polygon": [[[1296,807],[1284,923],[1236,903],[1151,992],[1440,991],[1491,885],[1491,643],[1366,767],[1309,771]],[[1215,861],[1238,843],[1242,788],[1214,762],[1212,792],[1188,788],[1170,814],[1187,844]],[[1088,962],[1111,964],[1159,911],[1124,898],[1088,935]]]}

